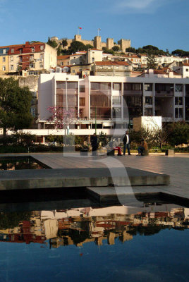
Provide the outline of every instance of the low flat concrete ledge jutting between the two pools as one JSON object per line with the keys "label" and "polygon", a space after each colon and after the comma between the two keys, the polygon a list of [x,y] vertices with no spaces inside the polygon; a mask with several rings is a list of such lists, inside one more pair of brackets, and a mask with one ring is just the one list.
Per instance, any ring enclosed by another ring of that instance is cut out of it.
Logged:
{"label": "low flat concrete ledge jutting between the two pools", "polygon": [[[111,173],[114,175],[111,176]],[[169,185],[166,174],[135,168],[56,168],[0,171],[0,190],[87,186]]]}

